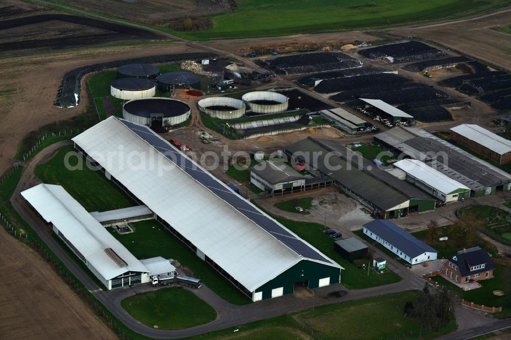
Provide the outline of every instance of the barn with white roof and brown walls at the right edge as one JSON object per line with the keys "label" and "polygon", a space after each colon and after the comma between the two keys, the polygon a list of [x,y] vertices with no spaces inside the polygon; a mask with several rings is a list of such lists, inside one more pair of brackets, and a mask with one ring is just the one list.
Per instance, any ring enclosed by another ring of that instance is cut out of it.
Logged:
{"label": "barn with white roof and brown walls at the right edge", "polygon": [[495,163],[511,162],[511,140],[475,124],[461,124],[450,131],[450,139],[460,147],[474,151]]}

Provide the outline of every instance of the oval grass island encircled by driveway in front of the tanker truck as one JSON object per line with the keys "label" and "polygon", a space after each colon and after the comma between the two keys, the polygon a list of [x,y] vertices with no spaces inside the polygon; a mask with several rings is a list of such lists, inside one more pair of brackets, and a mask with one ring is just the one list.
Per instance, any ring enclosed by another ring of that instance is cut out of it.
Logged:
{"label": "oval grass island encircled by driveway in front of the tanker truck", "polygon": [[121,301],[123,308],[144,325],[158,329],[184,329],[217,318],[213,307],[183,288],[165,288]]}

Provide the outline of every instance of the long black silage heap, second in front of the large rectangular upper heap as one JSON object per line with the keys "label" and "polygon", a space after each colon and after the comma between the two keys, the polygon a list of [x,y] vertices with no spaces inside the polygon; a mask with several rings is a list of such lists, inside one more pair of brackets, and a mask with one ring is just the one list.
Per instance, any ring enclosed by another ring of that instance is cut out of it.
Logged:
{"label": "long black silage heap, second in front of the large rectangular upper heap", "polygon": [[381,73],[357,77],[327,79],[319,83],[314,90],[319,93],[333,93],[370,86],[386,86],[404,84],[412,80],[396,74]]}

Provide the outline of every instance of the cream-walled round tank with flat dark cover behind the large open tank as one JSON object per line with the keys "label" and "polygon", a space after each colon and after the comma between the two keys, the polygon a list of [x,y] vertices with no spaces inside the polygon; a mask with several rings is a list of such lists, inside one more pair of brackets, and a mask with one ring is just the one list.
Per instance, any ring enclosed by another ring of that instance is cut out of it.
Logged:
{"label": "cream-walled round tank with flat dark cover behind the large open tank", "polygon": [[110,84],[110,94],[124,100],[151,98],[156,94],[156,83],[144,78],[121,78]]}

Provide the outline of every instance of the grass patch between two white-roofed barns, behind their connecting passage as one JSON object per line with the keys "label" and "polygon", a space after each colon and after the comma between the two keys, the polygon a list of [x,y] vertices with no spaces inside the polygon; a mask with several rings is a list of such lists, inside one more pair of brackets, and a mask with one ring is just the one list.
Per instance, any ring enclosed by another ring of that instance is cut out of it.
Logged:
{"label": "grass patch between two white-roofed barns, behind their connecting passage", "polygon": [[[76,166],[82,162],[82,169],[72,171],[65,167],[64,158],[67,153],[73,153],[68,160],[69,165]],[[59,149],[48,163],[37,165],[35,174],[43,183],[62,185],[87,211],[106,211],[137,205],[117,185],[106,179],[101,171],[89,169],[84,158],[71,145]]]}

